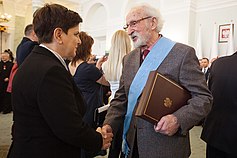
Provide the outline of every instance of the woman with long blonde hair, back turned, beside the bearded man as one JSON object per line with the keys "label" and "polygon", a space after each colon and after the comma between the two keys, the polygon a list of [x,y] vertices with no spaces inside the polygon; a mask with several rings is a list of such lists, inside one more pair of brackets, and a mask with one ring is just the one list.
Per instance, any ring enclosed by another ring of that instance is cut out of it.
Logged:
{"label": "woman with long blonde hair, back turned, beside the bearded man", "polygon": [[[111,86],[112,95],[110,100],[114,98],[114,94],[119,88],[119,79],[122,75],[122,60],[131,51],[131,47],[131,39],[127,32],[118,30],[113,34],[108,60],[102,66],[105,78]],[[114,139],[109,149],[108,158],[118,158],[121,153],[123,124],[113,134]]]}

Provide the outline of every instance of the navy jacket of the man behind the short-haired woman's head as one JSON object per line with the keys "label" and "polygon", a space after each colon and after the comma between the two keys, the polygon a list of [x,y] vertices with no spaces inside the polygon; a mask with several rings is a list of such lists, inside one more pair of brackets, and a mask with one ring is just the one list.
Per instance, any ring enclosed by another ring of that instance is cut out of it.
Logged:
{"label": "navy jacket of the man behind the short-haired woman's head", "polygon": [[23,37],[21,43],[17,46],[16,49],[16,61],[18,67],[23,63],[25,58],[30,54],[32,49],[39,45],[37,42],[31,41],[31,39],[27,37]]}

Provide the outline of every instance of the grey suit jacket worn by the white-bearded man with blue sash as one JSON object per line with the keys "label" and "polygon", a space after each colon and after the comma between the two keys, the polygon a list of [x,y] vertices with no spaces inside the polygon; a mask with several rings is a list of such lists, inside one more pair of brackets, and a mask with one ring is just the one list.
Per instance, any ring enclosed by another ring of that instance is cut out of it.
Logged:
{"label": "grey suit jacket worn by the white-bearded man with blue sash", "polygon": [[[115,131],[123,123],[129,87],[139,67],[140,50],[135,49],[124,57],[119,89],[110,103],[104,122],[110,124]],[[192,95],[188,104],[174,113],[181,125],[179,131],[181,135],[169,137],[157,133],[153,124],[133,114],[127,133],[128,144],[132,151],[137,135],[139,156],[142,158],[187,158],[191,152],[188,131],[210,111],[212,96],[207,88],[204,74],[200,70],[195,51],[189,46],[175,44],[159,66],[158,72],[185,87]],[[129,157],[131,156],[132,152],[129,154]]]}

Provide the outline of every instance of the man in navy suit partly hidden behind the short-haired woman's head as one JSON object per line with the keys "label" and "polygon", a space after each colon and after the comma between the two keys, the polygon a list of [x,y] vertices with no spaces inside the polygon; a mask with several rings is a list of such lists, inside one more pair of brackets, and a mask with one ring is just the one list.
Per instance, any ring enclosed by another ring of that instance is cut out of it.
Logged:
{"label": "man in navy suit partly hidden behind the short-haired woman's head", "polygon": [[16,61],[18,67],[22,64],[25,58],[30,54],[31,50],[38,45],[38,37],[36,36],[33,28],[33,24],[29,24],[25,27],[25,37],[21,40],[21,43],[16,49]]}

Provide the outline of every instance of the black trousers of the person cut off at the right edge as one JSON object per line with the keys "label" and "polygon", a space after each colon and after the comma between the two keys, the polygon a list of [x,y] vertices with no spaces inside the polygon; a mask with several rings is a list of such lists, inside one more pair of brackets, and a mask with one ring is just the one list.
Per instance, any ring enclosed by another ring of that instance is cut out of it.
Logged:
{"label": "black trousers of the person cut off at the right edge", "polygon": [[232,155],[213,146],[207,145],[206,158],[237,158],[237,155]]}

